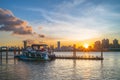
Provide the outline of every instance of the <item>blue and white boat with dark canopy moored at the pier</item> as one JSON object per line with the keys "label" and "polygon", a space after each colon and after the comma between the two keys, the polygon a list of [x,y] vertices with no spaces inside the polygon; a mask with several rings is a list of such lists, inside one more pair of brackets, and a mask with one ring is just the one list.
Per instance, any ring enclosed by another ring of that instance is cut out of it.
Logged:
{"label": "blue and white boat with dark canopy moored at the pier", "polygon": [[15,57],[20,60],[52,60],[55,58],[55,54],[47,46],[46,44],[33,44],[23,49],[22,54]]}

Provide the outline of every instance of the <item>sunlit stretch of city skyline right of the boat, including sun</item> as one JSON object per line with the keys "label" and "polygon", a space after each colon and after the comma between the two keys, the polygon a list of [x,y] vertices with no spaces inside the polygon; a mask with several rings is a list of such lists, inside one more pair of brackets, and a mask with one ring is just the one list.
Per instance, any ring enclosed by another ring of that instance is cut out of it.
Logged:
{"label": "sunlit stretch of city skyline right of the boat, including sun", "polygon": [[62,45],[61,41],[57,41],[56,47],[51,46],[51,49],[54,48],[55,51],[73,51],[74,45],[76,46],[77,51],[120,51],[120,44],[117,39],[114,39],[112,43],[109,42],[109,39],[102,39],[94,42],[94,45],[89,45],[87,43],[83,45]]}

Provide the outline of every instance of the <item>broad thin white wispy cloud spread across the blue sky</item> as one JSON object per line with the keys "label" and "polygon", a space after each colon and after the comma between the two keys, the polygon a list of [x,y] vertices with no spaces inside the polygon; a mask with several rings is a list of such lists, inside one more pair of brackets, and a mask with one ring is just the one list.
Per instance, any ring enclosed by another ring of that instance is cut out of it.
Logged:
{"label": "broad thin white wispy cloud spread across the blue sky", "polygon": [[116,9],[117,6],[106,5],[102,1],[65,0],[51,10],[27,10],[38,12],[42,16],[43,22],[40,25],[44,26],[42,31],[47,36],[86,40],[99,38],[111,33],[111,30],[117,31],[120,14],[111,8]]}

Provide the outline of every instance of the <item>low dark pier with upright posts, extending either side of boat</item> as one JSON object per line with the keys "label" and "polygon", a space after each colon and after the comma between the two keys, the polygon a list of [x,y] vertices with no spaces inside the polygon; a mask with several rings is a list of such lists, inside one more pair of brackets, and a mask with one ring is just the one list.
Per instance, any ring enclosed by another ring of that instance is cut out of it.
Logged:
{"label": "low dark pier with upright posts, extending either side of boat", "polygon": [[[13,56],[20,55],[20,52],[22,50],[15,49],[15,50],[8,50],[7,47],[0,48],[0,60],[2,60],[3,52],[4,56],[6,56],[6,60],[8,60],[9,52],[13,52]],[[55,55],[54,57],[51,57],[52,59],[79,59],[79,60],[104,60],[103,58],[103,50],[101,49],[100,56],[93,56],[93,55],[76,55],[76,45],[73,45],[73,54],[72,55]]]}

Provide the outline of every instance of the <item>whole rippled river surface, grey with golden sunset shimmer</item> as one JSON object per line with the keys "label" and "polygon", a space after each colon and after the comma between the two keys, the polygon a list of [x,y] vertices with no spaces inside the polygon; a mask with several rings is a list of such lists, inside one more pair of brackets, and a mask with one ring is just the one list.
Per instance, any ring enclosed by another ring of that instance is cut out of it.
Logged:
{"label": "whole rippled river surface, grey with golden sunset shimmer", "polygon": [[[55,54],[72,55],[72,52]],[[100,55],[100,52],[85,54]],[[56,59],[30,62],[12,57],[0,61],[0,80],[120,80],[120,52],[104,52],[103,61]]]}

